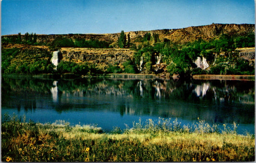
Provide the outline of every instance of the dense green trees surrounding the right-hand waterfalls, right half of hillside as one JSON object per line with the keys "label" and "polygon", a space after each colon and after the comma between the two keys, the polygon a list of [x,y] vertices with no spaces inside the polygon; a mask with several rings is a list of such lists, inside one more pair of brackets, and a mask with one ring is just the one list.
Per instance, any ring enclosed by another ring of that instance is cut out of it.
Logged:
{"label": "dense green trees surrounding the right-hand waterfalls, right half of hillside", "polygon": [[[150,39],[151,38],[151,39]],[[149,44],[152,40],[149,34],[145,34],[142,49],[135,53],[135,63],[139,65],[141,56],[144,59],[144,69],[147,73],[154,72],[152,65],[156,63],[155,55],[162,55],[163,63],[167,65],[167,71],[179,76],[191,74],[220,74],[220,75],[254,75],[254,65],[249,61],[239,58],[235,49],[238,47],[254,47],[254,34],[246,36],[229,36],[221,34],[210,41],[198,39],[195,42],[181,44],[165,41]],[[211,65],[209,69],[196,68],[194,61],[197,57],[205,57]]]}

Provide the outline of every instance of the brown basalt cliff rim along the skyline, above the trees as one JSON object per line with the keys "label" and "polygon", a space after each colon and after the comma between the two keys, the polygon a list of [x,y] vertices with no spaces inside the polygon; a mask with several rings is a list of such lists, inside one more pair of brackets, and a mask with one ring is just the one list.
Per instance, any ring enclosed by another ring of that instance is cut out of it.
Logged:
{"label": "brown basalt cliff rim along the skyline, above the trees", "polygon": [[[210,24],[203,26],[191,26],[181,29],[162,29],[162,30],[152,30],[152,31],[135,31],[135,32],[125,32],[126,35],[130,34],[131,43],[139,36],[144,36],[146,33],[153,33],[159,35],[159,40],[163,41],[168,39],[173,43],[186,43],[195,41],[198,38],[204,40],[209,40],[219,34],[225,33],[229,35],[244,35],[246,33],[254,33],[255,24]],[[73,40],[77,38],[82,38],[85,40],[95,39],[99,41],[106,41],[109,43],[116,42],[120,33],[110,33],[110,34],[38,34],[37,42],[50,43],[57,37],[68,37]],[[17,37],[17,34],[3,35],[2,38]],[[22,35],[24,37],[24,35]]]}

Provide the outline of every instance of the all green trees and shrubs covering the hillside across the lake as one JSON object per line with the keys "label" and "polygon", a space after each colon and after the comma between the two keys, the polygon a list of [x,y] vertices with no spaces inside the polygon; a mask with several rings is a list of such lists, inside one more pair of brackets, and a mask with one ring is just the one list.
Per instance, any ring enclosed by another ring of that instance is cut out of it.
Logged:
{"label": "all green trees and shrubs covering the hillside across the lake", "polygon": [[[162,42],[156,33],[146,33],[143,36],[137,36],[131,43],[130,34],[122,31],[118,38],[120,48],[131,48],[135,50],[134,60],[127,61],[120,65],[108,65],[105,70],[99,71],[95,65],[88,63],[77,64],[61,62],[57,71],[53,71],[54,65],[51,64],[51,52],[43,49],[2,49],[2,73],[4,74],[39,74],[39,73],[138,73],[138,66],[143,57],[142,71],[144,73],[161,73],[154,65],[156,56],[161,55],[161,63],[166,67],[166,71],[178,74],[182,77],[191,75],[210,74],[210,75],[254,75],[254,62],[249,62],[239,57],[236,48],[255,47],[254,33],[245,35],[227,35],[220,34],[209,41],[198,39],[194,42],[177,44],[168,39]],[[42,45],[46,43],[37,43],[36,33],[21,33],[17,36],[3,38],[2,43],[23,43]],[[106,41],[75,39],[68,37],[57,37],[51,43],[46,44],[51,51],[61,47],[81,47],[81,48],[112,48],[112,45]],[[40,54],[40,55],[38,55]],[[196,68],[195,60],[197,57],[206,58],[210,65],[206,70]],[[23,60],[21,60],[23,59]]]}

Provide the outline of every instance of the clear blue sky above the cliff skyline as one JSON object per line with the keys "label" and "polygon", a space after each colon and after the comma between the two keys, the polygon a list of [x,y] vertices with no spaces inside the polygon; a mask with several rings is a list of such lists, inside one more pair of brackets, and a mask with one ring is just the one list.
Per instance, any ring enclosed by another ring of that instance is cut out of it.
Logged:
{"label": "clear blue sky above the cliff skyline", "polygon": [[255,24],[254,0],[2,0],[1,35],[120,33]]}

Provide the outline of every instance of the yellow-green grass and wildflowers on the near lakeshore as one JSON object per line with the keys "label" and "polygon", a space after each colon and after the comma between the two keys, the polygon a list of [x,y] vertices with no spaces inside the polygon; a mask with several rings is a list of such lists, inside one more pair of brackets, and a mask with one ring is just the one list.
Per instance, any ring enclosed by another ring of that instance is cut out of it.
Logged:
{"label": "yellow-green grass and wildflowers on the near lakeshore", "polygon": [[24,122],[5,115],[1,124],[3,162],[180,162],[255,161],[254,135],[239,135],[237,125],[220,133],[199,120],[140,120],[125,130],[106,133],[95,126]]}

